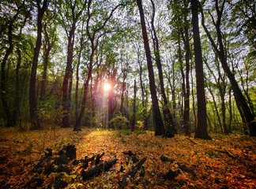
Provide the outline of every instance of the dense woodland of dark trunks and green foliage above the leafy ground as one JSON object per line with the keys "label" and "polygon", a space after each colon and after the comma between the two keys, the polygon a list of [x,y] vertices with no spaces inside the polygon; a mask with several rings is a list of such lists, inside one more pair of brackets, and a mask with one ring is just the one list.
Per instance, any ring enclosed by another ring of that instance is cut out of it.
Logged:
{"label": "dense woodland of dark trunks and green foliage above the leafy ground", "polygon": [[0,5],[2,125],[256,135],[254,0]]}

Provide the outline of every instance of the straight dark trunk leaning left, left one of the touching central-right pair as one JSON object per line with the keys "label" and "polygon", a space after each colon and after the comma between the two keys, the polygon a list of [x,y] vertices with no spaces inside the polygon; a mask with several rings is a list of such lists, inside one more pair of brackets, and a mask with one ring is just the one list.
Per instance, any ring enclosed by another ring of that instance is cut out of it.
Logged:
{"label": "straight dark trunk leaning left, left one of the touching central-right pair", "polygon": [[153,120],[154,120],[154,126],[155,126],[155,135],[163,135],[164,134],[164,123],[161,117],[158,99],[156,95],[156,84],[155,84],[155,76],[154,71],[152,68],[152,59],[151,59],[151,53],[149,48],[149,39],[147,35],[147,30],[145,27],[145,17],[143,13],[142,3],[141,0],[137,0],[137,6],[140,12],[141,17],[141,31],[144,41],[144,47],[145,47],[145,54],[147,58],[147,64],[148,64],[148,71],[149,71],[149,86],[150,86],[150,93],[152,98],[152,112],[153,112]]}

